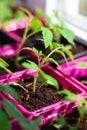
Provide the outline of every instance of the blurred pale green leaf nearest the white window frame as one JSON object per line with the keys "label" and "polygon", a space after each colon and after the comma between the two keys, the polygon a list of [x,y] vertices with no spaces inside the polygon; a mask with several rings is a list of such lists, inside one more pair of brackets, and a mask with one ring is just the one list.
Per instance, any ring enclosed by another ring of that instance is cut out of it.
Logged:
{"label": "blurred pale green leaf nearest the white window frame", "polygon": [[65,25],[58,28],[58,31],[61,33],[61,35],[72,45],[75,45],[74,43],[74,33],[69,28],[67,28]]}

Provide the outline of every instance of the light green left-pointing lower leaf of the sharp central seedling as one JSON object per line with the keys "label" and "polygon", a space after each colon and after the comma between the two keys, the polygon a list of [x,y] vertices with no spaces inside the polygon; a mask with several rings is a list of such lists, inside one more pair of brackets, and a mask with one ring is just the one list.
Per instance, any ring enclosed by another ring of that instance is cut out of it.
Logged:
{"label": "light green left-pointing lower leaf of the sharp central seedling", "polygon": [[37,64],[35,64],[34,62],[27,60],[27,62],[23,62],[22,66],[31,70],[38,70],[38,66]]}

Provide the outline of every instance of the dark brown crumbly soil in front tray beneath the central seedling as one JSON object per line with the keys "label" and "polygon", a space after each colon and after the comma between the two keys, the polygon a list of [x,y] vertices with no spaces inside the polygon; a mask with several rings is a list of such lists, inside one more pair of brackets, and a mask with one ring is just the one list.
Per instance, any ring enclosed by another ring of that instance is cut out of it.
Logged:
{"label": "dark brown crumbly soil in front tray beneath the central seedling", "polygon": [[32,81],[29,81],[29,79],[19,81],[19,84],[24,86],[28,90],[28,92],[24,91],[18,86],[14,86],[14,89],[17,91],[19,98],[21,99],[21,104],[26,109],[31,111],[37,110],[39,108],[51,105],[63,99],[63,95],[56,93],[58,90],[56,90],[52,86],[40,87],[41,83],[37,84],[36,91],[33,92]]}

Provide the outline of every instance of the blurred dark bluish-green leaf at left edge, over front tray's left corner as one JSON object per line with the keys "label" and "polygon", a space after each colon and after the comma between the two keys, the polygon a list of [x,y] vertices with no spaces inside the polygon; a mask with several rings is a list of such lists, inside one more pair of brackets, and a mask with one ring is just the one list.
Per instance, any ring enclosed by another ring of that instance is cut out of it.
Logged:
{"label": "blurred dark bluish-green leaf at left edge, over front tray's left corner", "polygon": [[17,93],[9,85],[0,85],[0,90],[7,93],[7,94],[8,93],[11,94],[15,99],[19,100]]}

